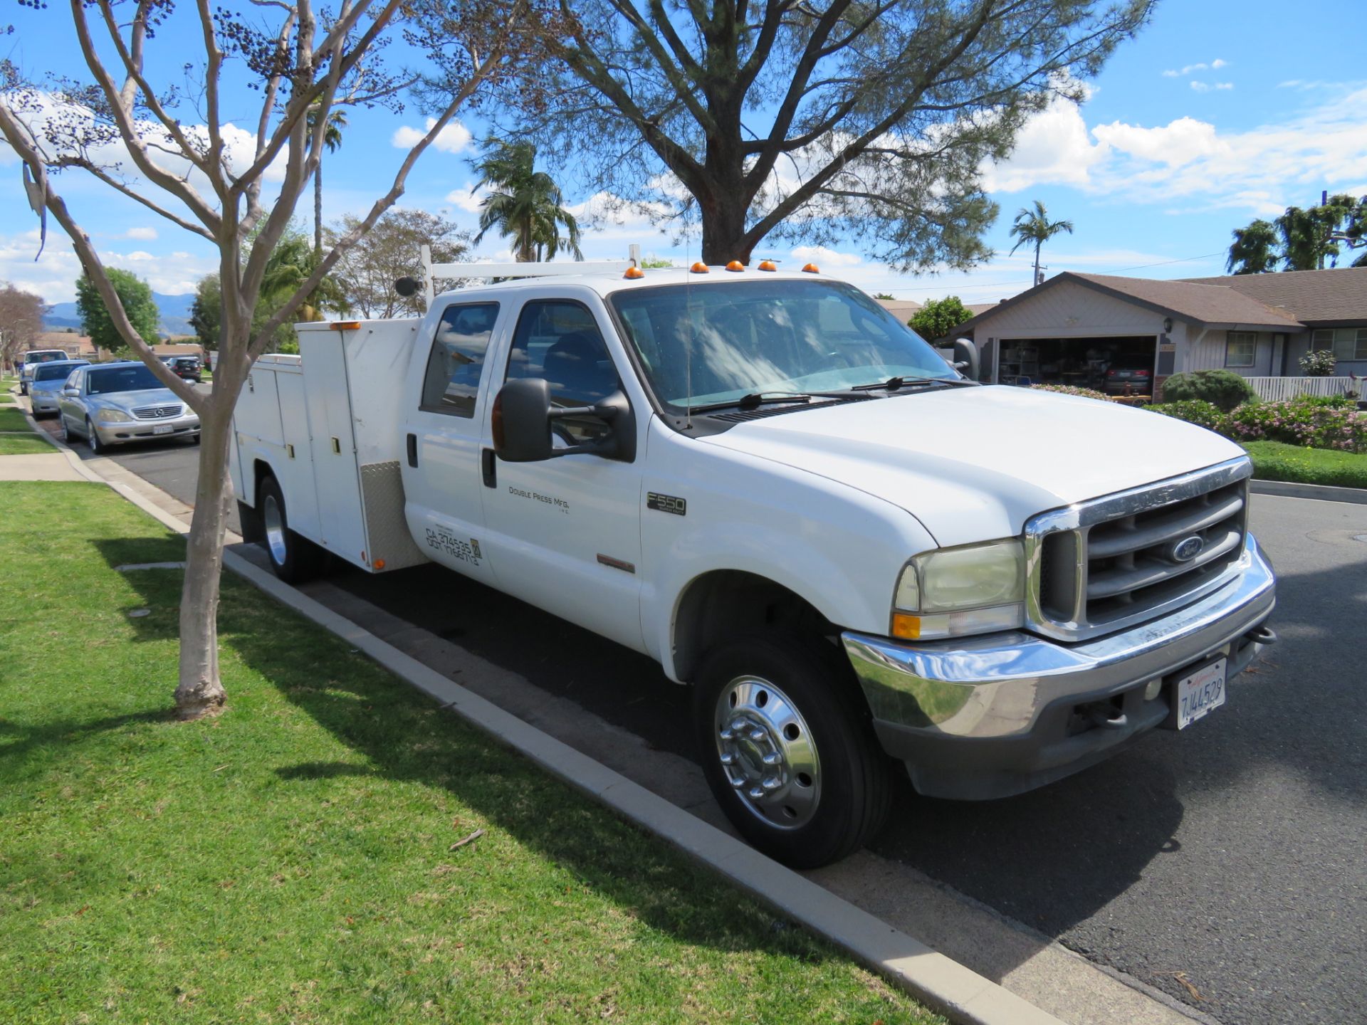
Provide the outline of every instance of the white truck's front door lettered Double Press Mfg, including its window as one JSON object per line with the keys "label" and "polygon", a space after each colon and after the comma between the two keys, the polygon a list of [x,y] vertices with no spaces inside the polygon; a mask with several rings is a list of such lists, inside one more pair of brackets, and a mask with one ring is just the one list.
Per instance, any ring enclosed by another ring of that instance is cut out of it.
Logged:
{"label": "white truck's front door lettered Double Press Mfg, including its window", "polygon": [[[559,406],[592,406],[619,388],[604,342],[611,328],[582,302],[529,298],[518,310],[507,358],[491,373],[492,398],[515,377],[544,377]],[[489,403],[492,405],[492,403]],[[637,409],[638,429],[649,415]],[[488,421],[488,415],[484,415]],[[604,430],[597,421],[556,421],[558,446]],[[548,612],[644,651],[641,637],[641,463],[566,455],[540,463],[493,461],[484,489],[485,537],[500,589]]]}

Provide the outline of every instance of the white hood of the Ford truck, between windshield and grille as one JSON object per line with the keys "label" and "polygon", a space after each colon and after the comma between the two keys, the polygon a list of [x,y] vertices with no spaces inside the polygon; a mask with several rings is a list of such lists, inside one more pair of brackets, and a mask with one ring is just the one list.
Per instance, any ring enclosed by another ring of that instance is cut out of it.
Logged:
{"label": "white hood of the Ford truck, between windshield and grille", "polygon": [[703,440],[883,497],[940,547],[1012,537],[1038,512],[1244,454],[1158,413],[1002,385],[801,410]]}

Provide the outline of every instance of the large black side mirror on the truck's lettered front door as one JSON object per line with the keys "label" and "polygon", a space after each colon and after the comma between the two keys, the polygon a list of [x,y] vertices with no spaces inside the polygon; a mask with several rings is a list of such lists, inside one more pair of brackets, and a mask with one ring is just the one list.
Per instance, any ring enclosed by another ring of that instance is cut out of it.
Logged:
{"label": "large black side mirror on the truck's lettered front door", "polygon": [[[551,443],[551,421],[563,417],[593,417],[611,430],[601,439],[556,448]],[[491,417],[493,451],[509,463],[534,463],[562,455],[599,455],[632,462],[636,458],[636,418],[621,392],[612,392],[595,406],[551,405],[551,384],[541,377],[509,381],[493,399]]]}

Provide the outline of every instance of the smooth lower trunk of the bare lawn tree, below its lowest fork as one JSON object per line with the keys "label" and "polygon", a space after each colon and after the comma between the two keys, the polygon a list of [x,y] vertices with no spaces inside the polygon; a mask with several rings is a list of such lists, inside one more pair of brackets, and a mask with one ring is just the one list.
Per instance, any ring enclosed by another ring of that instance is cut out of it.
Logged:
{"label": "smooth lower trunk of the bare lawn tree, below its lowest fork", "polygon": [[[221,368],[220,368],[221,373]],[[236,377],[230,370],[230,377]],[[219,678],[219,578],[223,534],[232,488],[228,487],[228,440],[235,381],[216,384],[200,413],[200,478],[194,519],[186,538],[185,589],[180,594],[180,682],[175,689],[178,719],[201,719],[223,711],[227,694]]]}

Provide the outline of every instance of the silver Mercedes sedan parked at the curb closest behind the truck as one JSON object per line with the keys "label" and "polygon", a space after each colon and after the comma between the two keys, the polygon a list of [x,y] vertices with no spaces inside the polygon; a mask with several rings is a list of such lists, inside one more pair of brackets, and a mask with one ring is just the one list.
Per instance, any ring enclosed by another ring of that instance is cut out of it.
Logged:
{"label": "silver Mercedes sedan parked at the curb closest behind the truck", "polygon": [[92,452],[157,437],[200,440],[200,417],[137,359],[78,368],[57,409],[63,440],[83,437]]}

